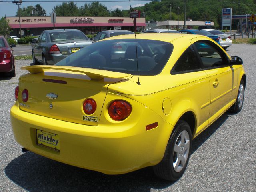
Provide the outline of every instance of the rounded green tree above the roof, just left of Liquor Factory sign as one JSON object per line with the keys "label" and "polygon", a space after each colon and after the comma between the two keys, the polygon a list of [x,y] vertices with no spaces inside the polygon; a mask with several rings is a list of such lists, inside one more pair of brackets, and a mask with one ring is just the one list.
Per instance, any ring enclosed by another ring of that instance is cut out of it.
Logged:
{"label": "rounded green tree above the roof, just left of Liquor Factory sign", "polygon": [[52,9],[56,16],[80,16],[80,10],[74,2],[64,2]]}

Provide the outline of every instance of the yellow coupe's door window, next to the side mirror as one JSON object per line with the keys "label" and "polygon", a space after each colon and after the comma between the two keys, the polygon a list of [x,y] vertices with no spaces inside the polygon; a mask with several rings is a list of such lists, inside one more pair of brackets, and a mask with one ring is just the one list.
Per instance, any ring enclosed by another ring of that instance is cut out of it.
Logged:
{"label": "yellow coupe's door window, next to the side mirror", "polygon": [[199,41],[194,43],[194,45],[198,50],[204,68],[226,65],[220,52],[218,52],[218,50],[214,48],[210,43]]}

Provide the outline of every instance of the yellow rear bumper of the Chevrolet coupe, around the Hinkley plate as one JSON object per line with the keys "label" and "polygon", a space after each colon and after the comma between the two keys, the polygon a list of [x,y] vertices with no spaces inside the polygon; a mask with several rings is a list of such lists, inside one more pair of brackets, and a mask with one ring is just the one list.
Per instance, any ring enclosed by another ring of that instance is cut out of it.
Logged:
{"label": "yellow rear bumper of the Chevrolet coupe, around the Hinkley plate", "polygon": [[[87,126],[30,114],[14,105],[10,118],[14,137],[24,148],[73,166],[99,171],[105,174],[123,174],[162,159],[173,126],[152,110],[145,108],[143,116],[130,127],[99,122]],[[158,122],[158,127],[145,130],[147,124]],[[58,134],[60,152],[38,146],[36,129]],[[115,130],[115,131],[113,131]]]}

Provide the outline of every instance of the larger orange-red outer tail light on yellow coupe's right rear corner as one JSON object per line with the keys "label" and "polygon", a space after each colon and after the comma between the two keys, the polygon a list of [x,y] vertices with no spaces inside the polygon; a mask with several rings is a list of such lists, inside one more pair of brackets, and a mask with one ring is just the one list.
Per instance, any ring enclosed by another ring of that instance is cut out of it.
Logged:
{"label": "larger orange-red outer tail light on yellow coupe's right rear corner", "polygon": [[121,121],[126,119],[132,112],[132,106],[122,100],[116,100],[108,107],[108,114],[110,118],[115,121]]}

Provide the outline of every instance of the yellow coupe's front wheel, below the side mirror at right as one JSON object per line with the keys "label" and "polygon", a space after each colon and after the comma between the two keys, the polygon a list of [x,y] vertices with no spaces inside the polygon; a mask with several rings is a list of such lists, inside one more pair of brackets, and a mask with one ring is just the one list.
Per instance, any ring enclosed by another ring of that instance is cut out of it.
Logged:
{"label": "yellow coupe's front wheel, below the side mirror at right", "polygon": [[236,97],[236,102],[230,107],[230,112],[238,113],[242,110],[243,104],[244,104],[244,80],[241,79],[238,94]]}

